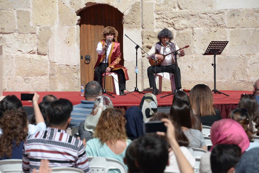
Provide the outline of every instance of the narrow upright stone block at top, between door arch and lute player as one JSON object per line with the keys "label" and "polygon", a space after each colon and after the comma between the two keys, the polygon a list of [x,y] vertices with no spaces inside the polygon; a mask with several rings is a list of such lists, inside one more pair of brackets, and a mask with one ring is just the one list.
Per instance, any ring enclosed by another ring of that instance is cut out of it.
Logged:
{"label": "narrow upright stone block at top, between door arch and lute player", "polygon": [[147,30],[154,29],[154,2],[142,2],[142,28]]}

